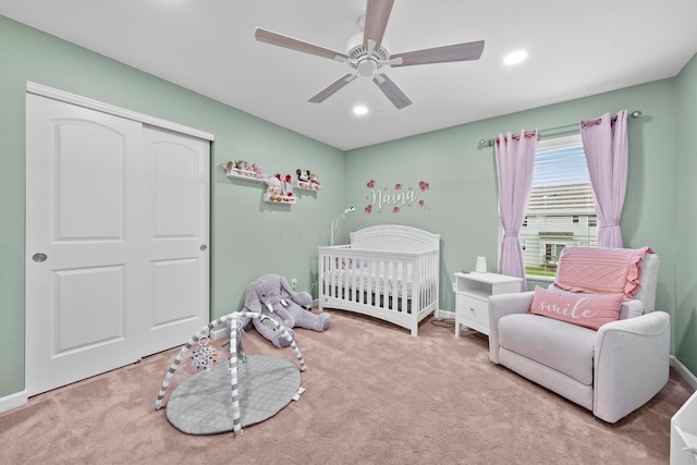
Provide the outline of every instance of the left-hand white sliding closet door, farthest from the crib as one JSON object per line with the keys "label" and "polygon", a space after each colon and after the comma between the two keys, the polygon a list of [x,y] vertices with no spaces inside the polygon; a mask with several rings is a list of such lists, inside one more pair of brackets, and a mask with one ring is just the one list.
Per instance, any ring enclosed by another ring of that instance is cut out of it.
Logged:
{"label": "left-hand white sliding closet door, farthest from the crib", "polygon": [[126,175],[145,167],[140,133],[134,121],[27,95],[28,395],[140,355],[127,315],[143,278],[130,258],[140,217],[129,204],[144,192]]}

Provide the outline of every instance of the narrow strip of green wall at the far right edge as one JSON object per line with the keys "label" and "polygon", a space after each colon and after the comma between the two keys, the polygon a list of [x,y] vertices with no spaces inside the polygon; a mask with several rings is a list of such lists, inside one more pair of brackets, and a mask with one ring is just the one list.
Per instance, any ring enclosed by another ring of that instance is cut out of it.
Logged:
{"label": "narrow strip of green wall at the far right edge", "polygon": [[697,145],[692,140],[697,127],[697,56],[675,83],[677,198],[673,347],[675,356],[697,375]]}

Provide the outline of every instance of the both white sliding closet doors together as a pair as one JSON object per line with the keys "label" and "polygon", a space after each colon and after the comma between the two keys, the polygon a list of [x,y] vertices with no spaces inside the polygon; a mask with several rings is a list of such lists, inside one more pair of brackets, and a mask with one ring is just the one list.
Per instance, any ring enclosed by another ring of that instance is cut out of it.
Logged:
{"label": "both white sliding closet doors together as a pair", "polygon": [[208,143],[158,133],[27,94],[27,395],[182,344],[208,320]]}

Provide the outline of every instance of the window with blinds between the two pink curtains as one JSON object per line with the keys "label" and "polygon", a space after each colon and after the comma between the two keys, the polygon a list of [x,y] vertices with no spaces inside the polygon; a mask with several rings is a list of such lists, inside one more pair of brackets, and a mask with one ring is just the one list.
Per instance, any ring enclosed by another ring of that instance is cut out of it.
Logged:
{"label": "window with blinds between the two pink curtains", "polygon": [[533,189],[521,228],[526,274],[553,277],[566,245],[596,245],[597,224],[580,135],[538,142]]}

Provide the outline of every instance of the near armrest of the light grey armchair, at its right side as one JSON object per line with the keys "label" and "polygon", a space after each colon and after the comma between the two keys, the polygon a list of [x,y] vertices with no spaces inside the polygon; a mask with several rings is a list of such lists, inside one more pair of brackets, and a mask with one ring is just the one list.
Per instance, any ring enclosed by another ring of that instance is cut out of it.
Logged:
{"label": "near armrest of the light grey armchair, at its right side", "polygon": [[670,316],[664,311],[600,327],[594,360],[594,415],[615,423],[665,386],[670,338]]}

